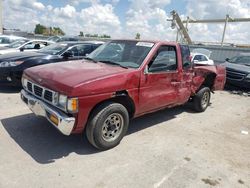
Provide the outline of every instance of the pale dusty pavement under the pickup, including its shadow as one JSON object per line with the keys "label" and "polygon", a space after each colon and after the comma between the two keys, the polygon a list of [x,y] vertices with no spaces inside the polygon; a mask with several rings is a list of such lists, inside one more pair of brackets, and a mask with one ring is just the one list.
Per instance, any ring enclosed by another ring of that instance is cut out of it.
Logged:
{"label": "pale dusty pavement under the pickup, including its shadow", "polygon": [[[204,113],[189,105],[131,121],[99,152],[35,117],[0,89],[0,187],[250,187],[250,97],[220,91]],[[247,134],[249,133],[249,134]]]}

